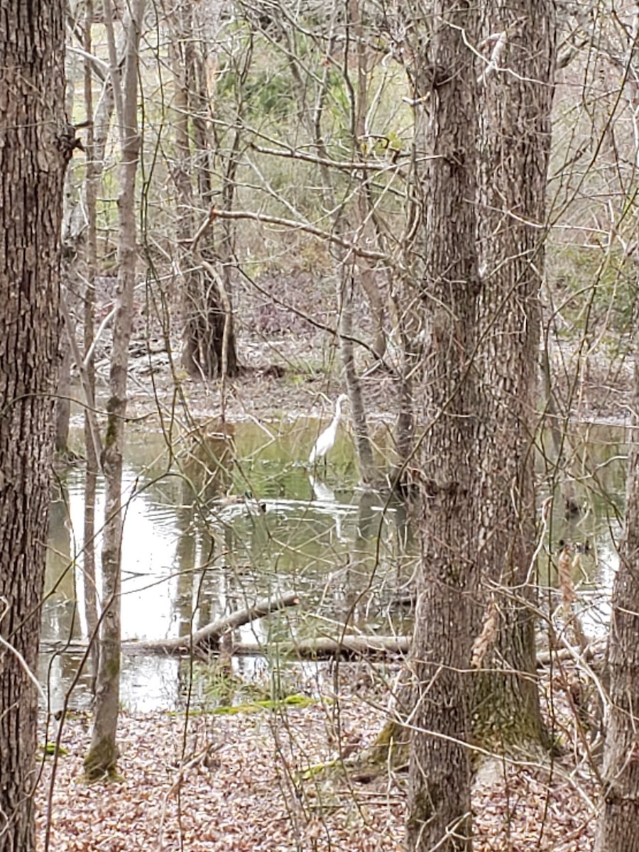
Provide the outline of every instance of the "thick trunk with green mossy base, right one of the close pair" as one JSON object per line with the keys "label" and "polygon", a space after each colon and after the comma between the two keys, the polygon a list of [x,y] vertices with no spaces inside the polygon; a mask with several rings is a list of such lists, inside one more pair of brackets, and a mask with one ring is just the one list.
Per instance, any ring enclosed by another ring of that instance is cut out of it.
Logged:
{"label": "thick trunk with green mossy base, right one of the close pair", "polygon": [[[539,289],[555,66],[551,0],[494,0],[483,18],[477,207],[482,273],[477,364],[489,428],[482,436],[478,550],[494,593],[494,647],[482,673],[474,733],[491,741],[544,742],[534,677],[534,441],[538,429]],[[506,67],[507,73],[489,64]],[[504,594],[500,590],[504,590]],[[487,606],[487,604],[486,604]],[[489,617],[490,618],[490,617]],[[489,642],[486,631],[484,639]]]}

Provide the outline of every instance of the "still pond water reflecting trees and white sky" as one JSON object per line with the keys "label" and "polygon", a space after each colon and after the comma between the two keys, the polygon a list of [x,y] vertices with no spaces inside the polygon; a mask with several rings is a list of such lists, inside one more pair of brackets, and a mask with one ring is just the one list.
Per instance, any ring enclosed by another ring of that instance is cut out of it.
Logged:
{"label": "still pond water reflecting trees and white sky", "polygon": [[[305,460],[318,431],[316,422],[287,420],[235,423],[223,432],[211,422],[197,434],[179,436],[130,429],[124,639],[180,636],[257,597],[287,590],[299,593],[301,606],[246,625],[239,639],[276,648],[291,637],[339,636],[343,630],[383,635],[411,630],[412,613],[402,599],[409,593],[418,544],[406,509],[383,492],[357,491],[353,447],[344,435],[328,465],[309,469]],[[79,445],[79,432],[77,438]],[[566,519],[556,501],[539,559],[540,582],[553,585],[550,553],[556,543],[589,542],[579,569],[583,576],[575,579],[582,584],[584,626],[593,636],[606,629],[617,564],[624,438],[623,429],[612,427],[578,431],[571,469],[588,509]],[[385,442],[388,435],[381,430],[376,446],[382,454]],[[542,458],[538,473],[544,481]],[[87,637],[83,486],[83,468],[68,470],[52,507],[39,675],[54,709],[71,688],[71,708],[89,705],[89,665],[78,675],[83,653],[65,650]],[[237,503],[227,498],[247,494]],[[96,520],[103,511],[101,484]],[[268,659],[237,658],[233,667],[245,678],[261,678]],[[192,675],[185,660],[125,654],[122,702],[131,711],[178,708],[187,691],[193,692]],[[205,678],[196,686],[204,690]]]}

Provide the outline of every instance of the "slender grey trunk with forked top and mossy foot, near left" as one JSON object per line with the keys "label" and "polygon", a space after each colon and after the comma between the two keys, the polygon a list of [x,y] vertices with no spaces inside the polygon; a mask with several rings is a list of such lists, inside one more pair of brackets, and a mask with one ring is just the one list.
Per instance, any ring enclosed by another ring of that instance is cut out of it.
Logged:
{"label": "slender grey trunk with forked top and mossy foot, near left", "polygon": [[[110,0],[104,4],[110,17]],[[89,780],[116,774],[118,749],[116,734],[119,709],[120,674],[120,580],[122,546],[122,457],[124,452],[124,417],[129,366],[129,343],[133,320],[133,291],[137,256],[135,227],[135,176],[140,153],[137,129],[138,47],[144,0],[131,4],[126,23],[124,78],[121,88],[113,63],[115,43],[112,22],[111,43],[113,91],[118,112],[121,148],[120,193],[118,198],[118,309],[113,324],[110,396],[107,401],[107,435],[102,452],[102,470],[107,482],[104,540],[102,546],[102,623],[100,662],[95,691],[95,717],[89,752],[84,769]]]}

